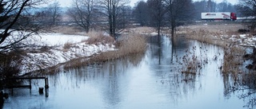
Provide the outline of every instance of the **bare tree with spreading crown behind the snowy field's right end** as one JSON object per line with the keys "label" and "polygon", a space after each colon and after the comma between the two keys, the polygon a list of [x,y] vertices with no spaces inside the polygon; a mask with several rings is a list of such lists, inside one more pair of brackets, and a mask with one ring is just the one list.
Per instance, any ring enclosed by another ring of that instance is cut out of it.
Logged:
{"label": "bare tree with spreading crown behind the snowy field's right end", "polygon": [[95,18],[95,6],[95,0],[74,0],[74,4],[68,10],[68,13],[76,24],[86,29],[86,32],[88,32],[92,25],[92,19]]}

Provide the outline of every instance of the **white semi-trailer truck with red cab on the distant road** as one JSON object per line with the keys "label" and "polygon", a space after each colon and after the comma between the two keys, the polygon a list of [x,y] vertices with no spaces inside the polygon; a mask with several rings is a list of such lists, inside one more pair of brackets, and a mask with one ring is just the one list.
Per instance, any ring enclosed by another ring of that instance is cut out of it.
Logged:
{"label": "white semi-trailer truck with red cab on the distant road", "polygon": [[217,12],[217,13],[202,13],[202,20],[237,20],[234,13],[230,12]]}

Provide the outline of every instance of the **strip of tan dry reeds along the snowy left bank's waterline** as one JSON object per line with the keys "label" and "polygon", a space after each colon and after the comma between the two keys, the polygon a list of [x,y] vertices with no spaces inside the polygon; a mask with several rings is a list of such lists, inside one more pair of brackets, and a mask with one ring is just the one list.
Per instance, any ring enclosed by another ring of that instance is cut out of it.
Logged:
{"label": "strip of tan dry reeds along the snowy left bank's waterline", "polygon": [[65,64],[64,68],[78,68],[83,65],[105,62],[107,60],[114,60],[124,56],[134,54],[142,54],[146,51],[146,38],[142,35],[133,34],[122,36],[122,40],[115,43],[118,50],[101,53],[97,56],[81,57],[75,60],[70,60]]}

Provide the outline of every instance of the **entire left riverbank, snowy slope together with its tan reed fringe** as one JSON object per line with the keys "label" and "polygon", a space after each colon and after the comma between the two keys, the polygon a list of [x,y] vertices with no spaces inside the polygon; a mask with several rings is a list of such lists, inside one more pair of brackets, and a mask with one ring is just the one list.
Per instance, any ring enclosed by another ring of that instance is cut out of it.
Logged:
{"label": "entire left riverbank, snowy slope together with its tan reed fringe", "polygon": [[146,38],[139,34],[122,35],[118,41],[101,32],[86,35],[73,33],[43,33],[38,48],[26,50],[22,57],[22,75],[38,75],[59,72],[66,68],[113,60],[134,53],[144,53]]}

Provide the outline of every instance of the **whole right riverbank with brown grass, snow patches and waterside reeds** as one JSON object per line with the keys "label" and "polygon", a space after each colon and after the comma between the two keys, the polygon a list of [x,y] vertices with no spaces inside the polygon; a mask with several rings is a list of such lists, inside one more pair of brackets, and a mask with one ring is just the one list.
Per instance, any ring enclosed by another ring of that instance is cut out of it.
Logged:
{"label": "whole right riverbank with brown grass, snow patches and waterside reeds", "polygon": [[[222,46],[224,60],[222,73],[242,74],[248,72],[249,66],[254,66],[250,60],[244,58],[245,55],[253,53],[256,48],[256,36],[246,25],[238,24],[218,24],[218,25],[187,25],[178,27],[177,35],[189,39],[202,41],[207,44]],[[250,72],[254,72],[250,70]]]}

